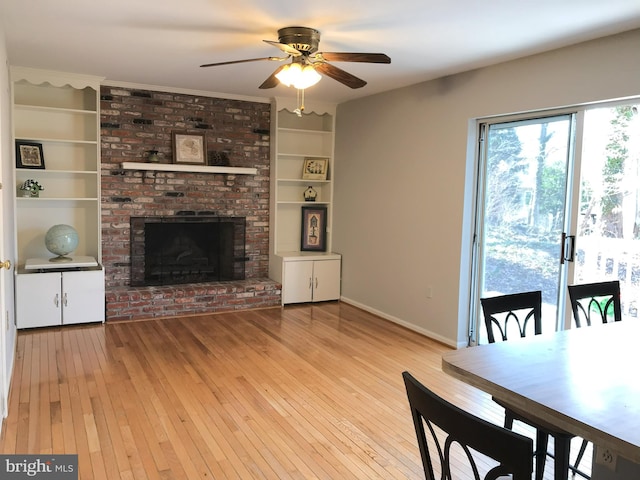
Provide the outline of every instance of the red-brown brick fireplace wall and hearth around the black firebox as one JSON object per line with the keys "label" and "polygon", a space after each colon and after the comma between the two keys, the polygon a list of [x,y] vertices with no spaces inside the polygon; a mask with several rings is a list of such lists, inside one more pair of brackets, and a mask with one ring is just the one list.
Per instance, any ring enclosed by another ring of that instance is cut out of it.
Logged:
{"label": "red-brown brick fireplace wall and hearth around the black firebox", "polygon": [[[107,320],[136,320],[280,305],[267,278],[268,103],[133,88],[101,89],[102,260]],[[208,163],[256,175],[123,170],[158,152],[172,163],[172,133],[205,133]],[[246,221],[244,280],[131,286],[131,217],[215,216]]]}

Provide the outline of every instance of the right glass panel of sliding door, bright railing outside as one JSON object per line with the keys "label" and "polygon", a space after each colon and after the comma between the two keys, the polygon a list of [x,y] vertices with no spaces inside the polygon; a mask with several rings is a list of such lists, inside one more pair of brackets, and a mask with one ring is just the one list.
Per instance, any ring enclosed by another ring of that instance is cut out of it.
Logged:
{"label": "right glass panel of sliding door, bright railing outside", "polygon": [[640,103],[586,110],[574,283],[619,280],[623,317],[640,299]]}

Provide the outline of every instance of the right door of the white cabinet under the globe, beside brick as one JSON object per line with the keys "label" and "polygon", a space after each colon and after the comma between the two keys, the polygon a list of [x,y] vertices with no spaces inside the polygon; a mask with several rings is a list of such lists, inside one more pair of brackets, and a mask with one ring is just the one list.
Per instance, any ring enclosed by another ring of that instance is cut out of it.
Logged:
{"label": "right door of the white cabinet under the globe, beside brick", "polygon": [[104,321],[104,270],[62,274],[62,323]]}

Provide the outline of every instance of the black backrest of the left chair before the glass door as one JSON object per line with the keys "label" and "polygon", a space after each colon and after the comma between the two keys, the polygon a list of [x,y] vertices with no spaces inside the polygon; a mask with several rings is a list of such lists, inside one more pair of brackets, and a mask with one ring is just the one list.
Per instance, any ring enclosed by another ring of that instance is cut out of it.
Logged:
{"label": "black backrest of the left chair before the glass door", "polygon": [[508,327],[514,324],[519,335],[524,337],[531,319],[533,319],[533,333],[539,335],[542,332],[542,292],[540,290],[481,298],[480,303],[489,343],[496,341],[498,332],[501,340],[507,340]]}

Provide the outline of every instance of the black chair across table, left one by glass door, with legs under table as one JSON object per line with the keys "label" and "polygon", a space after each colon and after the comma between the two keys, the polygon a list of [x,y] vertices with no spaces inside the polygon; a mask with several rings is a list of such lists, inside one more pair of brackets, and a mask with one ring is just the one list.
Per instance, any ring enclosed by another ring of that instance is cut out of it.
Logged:
{"label": "black chair across table, left one by glass door, with legs under table", "polygon": [[[489,343],[494,343],[496,339],[506,341],[510,332],[512,337],[513,335],[525,337],[527,333],[534,335],[542,333],[542,292],[540,290],[481,298],[480,303]],[[555,480],[567,480],[569,470],[574,475],[579,473],[588,478],[584,472],[578,471],[578,462],[574,465],[570,465],[569,462],[571,439],[575,435],[546,422],[534,421],[528,417],[527,412],[495,397],[493,400],[505,409],[505,428],[513,428],[513,421],[518,420],[536,429],[536,480],[542,480],[544,476],[547,456],[554,459]],[[549,436],[554,439],[553,455],[547,451]]]}

